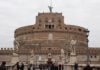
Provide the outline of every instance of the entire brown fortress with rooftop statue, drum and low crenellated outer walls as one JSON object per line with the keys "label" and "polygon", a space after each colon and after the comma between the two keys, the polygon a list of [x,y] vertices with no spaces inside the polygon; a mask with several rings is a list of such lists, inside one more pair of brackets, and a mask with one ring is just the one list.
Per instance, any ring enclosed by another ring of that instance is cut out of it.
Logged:
{"label": "entire brown fortress with rooftop statue, drum and low crenellated outer walls", "polygon": [[88,47],[89,30],[67,25],[62,13],[38,13],[34,25],[17,28],[14,33],[14,49],[0,49],[0,63],[100,64],[100,48]]}

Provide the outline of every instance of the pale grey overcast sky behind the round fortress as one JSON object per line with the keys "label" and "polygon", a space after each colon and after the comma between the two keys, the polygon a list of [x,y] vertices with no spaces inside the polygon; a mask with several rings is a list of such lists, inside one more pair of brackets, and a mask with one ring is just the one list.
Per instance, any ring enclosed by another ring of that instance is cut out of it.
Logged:
{"label": "pale grey overcast sky behind the round fortress", "polygon": [[[53,0],[53,11],[65,23],[90,30],[89,47],[100,47],[100,0]],[[49,12],[50,0],[0,0],[0,47],[13,47],[15,29],[33,25],[38,12]]]}

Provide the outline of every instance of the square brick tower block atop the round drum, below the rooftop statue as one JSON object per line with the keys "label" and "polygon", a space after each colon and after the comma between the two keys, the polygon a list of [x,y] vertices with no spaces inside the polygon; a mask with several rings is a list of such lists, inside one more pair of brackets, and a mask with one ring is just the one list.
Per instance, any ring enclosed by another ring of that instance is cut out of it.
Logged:
{"label": "square brick tower block atop the round drum, below the rooftop statue", "polygon": [[64,26],[64,16],[62,13],[39,13],[36,16],[35,27],[37,29],[60,29]]}

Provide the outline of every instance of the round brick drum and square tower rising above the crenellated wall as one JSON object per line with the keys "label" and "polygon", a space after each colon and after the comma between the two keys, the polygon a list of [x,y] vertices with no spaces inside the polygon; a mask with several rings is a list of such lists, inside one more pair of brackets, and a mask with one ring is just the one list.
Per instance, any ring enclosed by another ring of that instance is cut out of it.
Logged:
{"label": "round brick drum and square tower rising above the crenellated wall", "polygon": [[20,27],[15,30],[16,41],[19,48],[34,48],[59,50],[70,47],[71,41],[76,41],[75,47],[88,47],[88,30],[64,24],[62,13],[39,13],[36,24]]}

